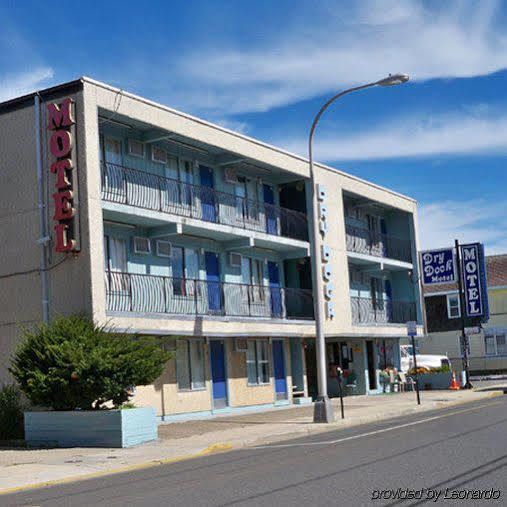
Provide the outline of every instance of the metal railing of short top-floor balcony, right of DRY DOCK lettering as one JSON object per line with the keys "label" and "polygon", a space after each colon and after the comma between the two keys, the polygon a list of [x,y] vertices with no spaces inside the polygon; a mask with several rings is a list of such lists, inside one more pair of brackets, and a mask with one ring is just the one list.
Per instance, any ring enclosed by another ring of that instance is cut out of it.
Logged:
{"label": "metal railing of short top-floor balcony, right of DRY DOCK lettering", "polygon": [[409,240],[351,225],[345,226],[345,235],[349,252],[412,262]]}

